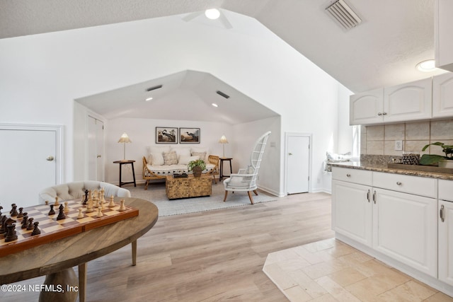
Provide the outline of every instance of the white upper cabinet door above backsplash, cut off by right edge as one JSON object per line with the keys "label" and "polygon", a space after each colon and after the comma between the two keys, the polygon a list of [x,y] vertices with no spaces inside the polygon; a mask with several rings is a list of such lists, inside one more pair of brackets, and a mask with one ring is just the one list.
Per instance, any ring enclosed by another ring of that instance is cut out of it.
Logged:
{"label": "white upper cabinet door above backsplash, cut off by right edge", "polygon": [[453,117],[453,74],[432,79],[432,117]]}

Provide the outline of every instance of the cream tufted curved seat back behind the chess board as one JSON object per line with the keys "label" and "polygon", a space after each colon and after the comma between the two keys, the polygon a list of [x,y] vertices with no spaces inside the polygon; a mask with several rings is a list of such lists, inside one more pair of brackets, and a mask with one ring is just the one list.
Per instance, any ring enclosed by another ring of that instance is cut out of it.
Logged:
{"label": "cream tufted curved seat back behind the chess board", "polygon": [[55,197],[62,201],[82,198],[85,197],[85,190],[99,190],[102,188],[105,190],[104,196],[106,198],[111,195],[115,197],[130,197],[130,191],[127,189],[117,187],[108,182],[88,180],[46,187],[39,193],[40,204],[44,204],[46,200],[55,202]]}

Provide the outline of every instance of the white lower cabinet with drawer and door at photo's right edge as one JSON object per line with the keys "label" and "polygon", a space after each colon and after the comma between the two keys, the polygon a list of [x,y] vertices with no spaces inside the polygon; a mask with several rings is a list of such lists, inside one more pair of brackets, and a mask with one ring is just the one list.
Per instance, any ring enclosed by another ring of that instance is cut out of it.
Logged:
{"label": "white lower cabinet with drawer and door at photo's right edge", "polygon": [[453,181],[451,180],[439,180],[437,219],[439,227],[439,279],[453,286]]}

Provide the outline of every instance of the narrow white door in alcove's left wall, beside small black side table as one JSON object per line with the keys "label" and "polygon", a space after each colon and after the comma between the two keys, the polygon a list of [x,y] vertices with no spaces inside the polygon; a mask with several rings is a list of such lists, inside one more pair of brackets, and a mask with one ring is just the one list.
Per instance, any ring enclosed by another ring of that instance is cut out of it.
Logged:
{"label": "narrow white door in alcove's left wall, beside small black side table", "polygon": [[104,181],[104,123],[88,117],[88,180]]}

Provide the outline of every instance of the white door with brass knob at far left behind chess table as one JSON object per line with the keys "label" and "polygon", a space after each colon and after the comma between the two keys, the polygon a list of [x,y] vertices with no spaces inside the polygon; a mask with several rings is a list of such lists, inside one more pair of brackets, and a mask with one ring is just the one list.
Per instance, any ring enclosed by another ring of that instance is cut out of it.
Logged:
{"label": "white door with brass knob at far left behind chess table", "polygon": [[18,207],[38,204],[39,192],[59,183],[59,134],[59,130],[33,129],[32,125],[0,125],[0,203],[4,209],[13,203]]}

